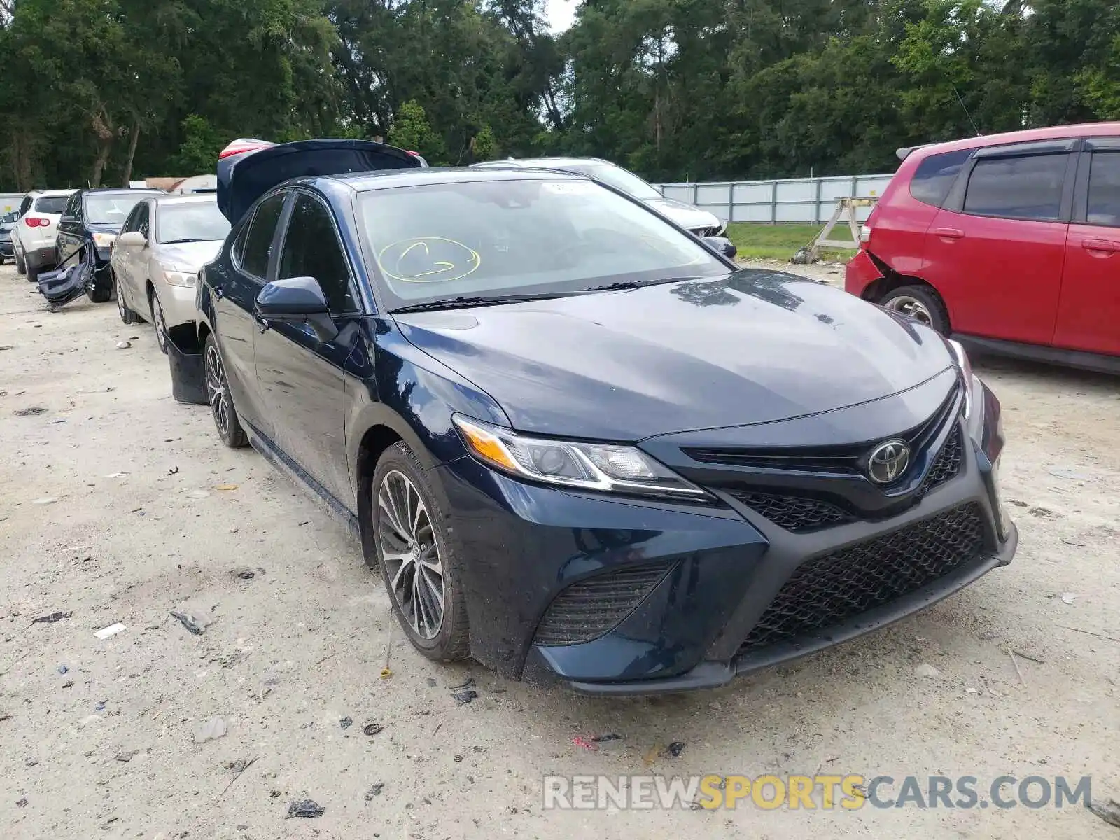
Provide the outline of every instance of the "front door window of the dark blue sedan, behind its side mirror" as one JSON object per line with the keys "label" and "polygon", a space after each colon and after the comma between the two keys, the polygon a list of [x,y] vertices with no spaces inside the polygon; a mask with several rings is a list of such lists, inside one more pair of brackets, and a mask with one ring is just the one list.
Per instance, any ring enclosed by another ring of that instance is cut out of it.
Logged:
{"label": "front door window of the dark blue sedan, behind its side mirror", "polygon": [[330,211],[312,196],[301,193],[296,197],[277,277],[281,280],[314,277],[327,297],[332,312],[357,309],[349,288],[349,265],[335,232]]}

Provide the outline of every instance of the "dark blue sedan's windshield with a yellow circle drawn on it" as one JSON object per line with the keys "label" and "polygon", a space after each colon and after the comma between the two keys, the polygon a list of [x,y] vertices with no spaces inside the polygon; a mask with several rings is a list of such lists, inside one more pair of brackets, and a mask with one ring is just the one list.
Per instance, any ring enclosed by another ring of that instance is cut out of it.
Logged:
{"label": "dark blue sedan's windshield with a yellow circle drawn on it", "polygon": [[728,272],[655,213],[587,180],[399,187],[363,193],[358,206],[390,310]]}

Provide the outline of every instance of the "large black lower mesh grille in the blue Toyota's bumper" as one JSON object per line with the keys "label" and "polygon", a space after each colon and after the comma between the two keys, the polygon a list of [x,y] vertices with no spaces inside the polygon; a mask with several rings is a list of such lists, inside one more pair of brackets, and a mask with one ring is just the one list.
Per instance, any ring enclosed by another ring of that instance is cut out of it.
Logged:
{"label": "large black lower mesh grille in the blue Toyota's bumper", "polygon": [[894,533],[806,560],[739,653],[806,636],[908,595],[980,557],[980,507],[962,505]]}

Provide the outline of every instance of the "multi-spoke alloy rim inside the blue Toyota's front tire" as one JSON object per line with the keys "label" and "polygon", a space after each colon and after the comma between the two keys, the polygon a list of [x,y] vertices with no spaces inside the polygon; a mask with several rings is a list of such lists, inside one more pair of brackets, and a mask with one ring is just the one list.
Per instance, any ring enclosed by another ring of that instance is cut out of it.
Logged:
{"label": "multi-spoke alloy rim inside the blue Toyota's front tire", "polygon": [[435,638],[444,624],[444,566],[428,508],[403,473],[386,473],[377,489],[382,572],[412,631]]}

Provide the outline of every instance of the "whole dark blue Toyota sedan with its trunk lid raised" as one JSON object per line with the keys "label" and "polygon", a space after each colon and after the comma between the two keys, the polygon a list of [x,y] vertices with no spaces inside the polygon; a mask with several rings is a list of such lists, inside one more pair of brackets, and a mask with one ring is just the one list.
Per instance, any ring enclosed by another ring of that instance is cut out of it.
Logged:
{"label": "whole dark blue Toyota sedan with its trunk lid raised", "polygon": [[921,324],[569,172],[248,143],[218,203],[218,435],[351,524],[426,656],[715,687],[1011,560],[999,403]]}

